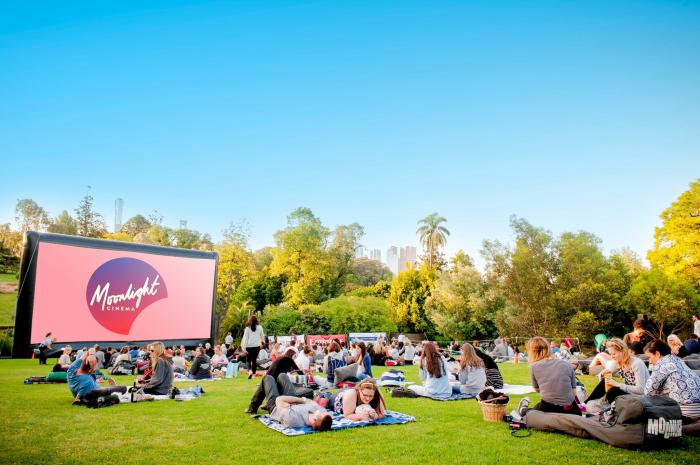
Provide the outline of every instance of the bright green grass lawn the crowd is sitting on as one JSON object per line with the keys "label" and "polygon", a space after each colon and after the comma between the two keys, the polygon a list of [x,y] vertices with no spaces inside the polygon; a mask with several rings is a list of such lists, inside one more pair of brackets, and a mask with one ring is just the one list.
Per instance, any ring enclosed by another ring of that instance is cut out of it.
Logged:
{"label": "bright green grass lawn the crowd is sitting on", "polygon": [[[528,383],[527,365],[502,364],[501,369],[506,382]],[[484,422],[474,400],[389,397],[390,409],[414,415],[417,422],[290,438],[243,413],[258,382],[245,377],[201,383],[206,394],[191,402],[91,410],[72,406],[65,385],[22,384],[27,376],[46,372],[36,360],[0,360],[0,463],[666,465],[698,463],[700,456],[700,440],[689,438],[681,449],[660,452],[539,432],[514,438],[505,423]],[[406,372],[408,380],[418,380],[415,367]],[[132,378],[118,380],[130,384]],[[510,407],[518,400],[513,397]]]}

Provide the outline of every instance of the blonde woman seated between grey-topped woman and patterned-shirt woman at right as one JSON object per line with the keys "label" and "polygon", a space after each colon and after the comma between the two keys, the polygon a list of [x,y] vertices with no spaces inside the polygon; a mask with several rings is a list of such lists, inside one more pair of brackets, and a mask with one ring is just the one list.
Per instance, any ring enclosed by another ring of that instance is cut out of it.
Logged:
{"label": "blonde woman seated between grey-topped woman and patterned-shirt woman at right", "polygon": [[[621,339],[610,339],[605,345],[610,353],[610,357],[617,364],[622,383],[614,379],[608,379],[607,384],[609,387],[606,392],[606,381],[601,380],[591,392],[588,400],[600,399],[605,396],[608,402],[612,402],[617,396],[623,394],[644,394],[644,386],[649,379],[649,370],[647,370],[644,362],[633,356],[632,351]],[[603,374],[611,371],[613,370],[605,370]]]}

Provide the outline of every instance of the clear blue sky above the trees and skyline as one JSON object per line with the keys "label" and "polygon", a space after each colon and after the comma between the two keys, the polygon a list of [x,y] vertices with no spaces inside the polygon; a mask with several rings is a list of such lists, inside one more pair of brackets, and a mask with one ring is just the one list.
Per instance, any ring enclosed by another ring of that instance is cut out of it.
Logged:
{"label": "clear blue sky above the trees and skyline", "polygon": [[516,214],[653,244],[700,177],[700,2],[3,2],[0,222],[92,186],[271,245],[286,215],[447,251]]}

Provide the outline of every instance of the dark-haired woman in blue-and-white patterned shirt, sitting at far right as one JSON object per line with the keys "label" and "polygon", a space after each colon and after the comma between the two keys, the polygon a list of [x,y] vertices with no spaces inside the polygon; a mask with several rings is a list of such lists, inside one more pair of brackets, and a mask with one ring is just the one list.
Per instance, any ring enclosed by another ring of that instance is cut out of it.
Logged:
{"label": "dark-haired woman in blue-and-white patterned shirt, sitting at far right", "polygon": [[644,353],[654,367],[644,395],[670,397],[681,406],[684,417],[700,419],[700,377],[673,355],[663,341],[650,342],[644,347]]}

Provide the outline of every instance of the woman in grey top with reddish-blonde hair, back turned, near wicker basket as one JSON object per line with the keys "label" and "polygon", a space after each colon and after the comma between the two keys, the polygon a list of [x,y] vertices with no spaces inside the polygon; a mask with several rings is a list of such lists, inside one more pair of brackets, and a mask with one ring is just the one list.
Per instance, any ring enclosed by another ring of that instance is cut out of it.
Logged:
{"label": "woman in grey top with reddish-blonde hair, back turned, near wicker basket", "polygon": [[[540,393],[541,400],[535,410],[552,413],[581,415],[576,404],[574,389],[576,377],[569,362],[552,358],[549,343],[543,337],[527,341],[527,357],[530,363],[532,387]],[[529,399],[521,401],[519,412],[526,411]]]}

